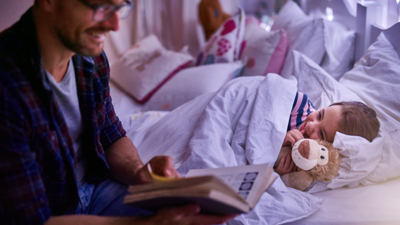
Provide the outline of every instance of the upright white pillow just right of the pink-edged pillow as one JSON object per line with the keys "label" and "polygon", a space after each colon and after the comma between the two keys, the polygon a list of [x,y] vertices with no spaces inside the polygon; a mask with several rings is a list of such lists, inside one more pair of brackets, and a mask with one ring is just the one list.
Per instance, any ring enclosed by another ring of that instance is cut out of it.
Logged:
{"label": "upright white pillow just right of the pink-edged pillow", "polygon": [[287,35],[288,54],[281,76],[289,78],[293,70],[292,50],[305,54],[318,65],[325,54],[323,19],[308,17],[293,1],[288,1],[279,11],[271,30],[284,29]]}

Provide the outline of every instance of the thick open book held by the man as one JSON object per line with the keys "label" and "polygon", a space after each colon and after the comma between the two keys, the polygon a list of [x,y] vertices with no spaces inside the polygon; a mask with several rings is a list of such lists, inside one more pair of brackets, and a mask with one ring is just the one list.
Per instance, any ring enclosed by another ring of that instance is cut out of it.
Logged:
{"label": "thick open book held by the man", "polygon": [[271,186],[272,172],[267,164],[190,170],[186,178],[129,186],[124,203],[152,211],[197,203],[202,213],[240,214]]}

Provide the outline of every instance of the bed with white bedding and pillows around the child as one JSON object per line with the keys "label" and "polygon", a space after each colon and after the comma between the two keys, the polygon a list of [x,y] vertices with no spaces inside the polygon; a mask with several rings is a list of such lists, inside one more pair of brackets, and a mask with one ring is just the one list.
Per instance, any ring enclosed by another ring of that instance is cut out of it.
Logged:
{"label": "bed with white bedding and pillows around the child", "polygon": [[374,2],[358,4],[357,16],[346,1],[299,2],[282,6],[268,34],[241,19],[251,15],[233,14],[226,58],[210,41],[193,57],[157,36],[111,56],[116,113],[144,162],[170,155],[184,176],[191,168],[273,163],[296,90],[316,108],[364,101],[377,111],[380,132],[371,143],[336,134],[344,158],[334,181],[300,192],[278,179],[253,211],[227,224],[400,224],[400,23],[377,25],[382,6]]}

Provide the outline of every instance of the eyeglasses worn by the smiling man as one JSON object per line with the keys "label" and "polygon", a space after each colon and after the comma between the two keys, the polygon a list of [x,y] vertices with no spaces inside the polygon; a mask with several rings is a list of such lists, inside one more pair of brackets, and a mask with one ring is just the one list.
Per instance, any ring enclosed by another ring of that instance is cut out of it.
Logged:
{"label": "eyeglasses worn by the smiling man", "polygon": [[83,3],[83,5],[91,8],[93,10],[93,21],[95,22],[103,22],[117,12],[118,17],[123,20],[129,16],[132,12],[135,4],[125,0],[125,3],[121,6],[113,6],[113,5],[92,5],[89,4],[86,0],[78,0],[79,2]]}

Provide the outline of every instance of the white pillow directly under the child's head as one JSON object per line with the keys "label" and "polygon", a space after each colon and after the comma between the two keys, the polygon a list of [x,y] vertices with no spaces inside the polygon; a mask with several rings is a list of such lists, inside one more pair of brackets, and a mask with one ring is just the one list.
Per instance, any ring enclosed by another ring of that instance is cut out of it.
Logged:
{"label": "white pillow directly under the child's head", "polygon": [[[293,51],[293,56],[293,75],[298,81],[298,91],[306,93],[317,109],[339,101],[364,102],[302,53]],[[382,135],[379,131],[378,137],[369,142],[362,137],[336,132],[333,146],[344,156],[339,173],[332,182],[317,181],[309,192],[357,186],[378,165],[384,140]]]}

